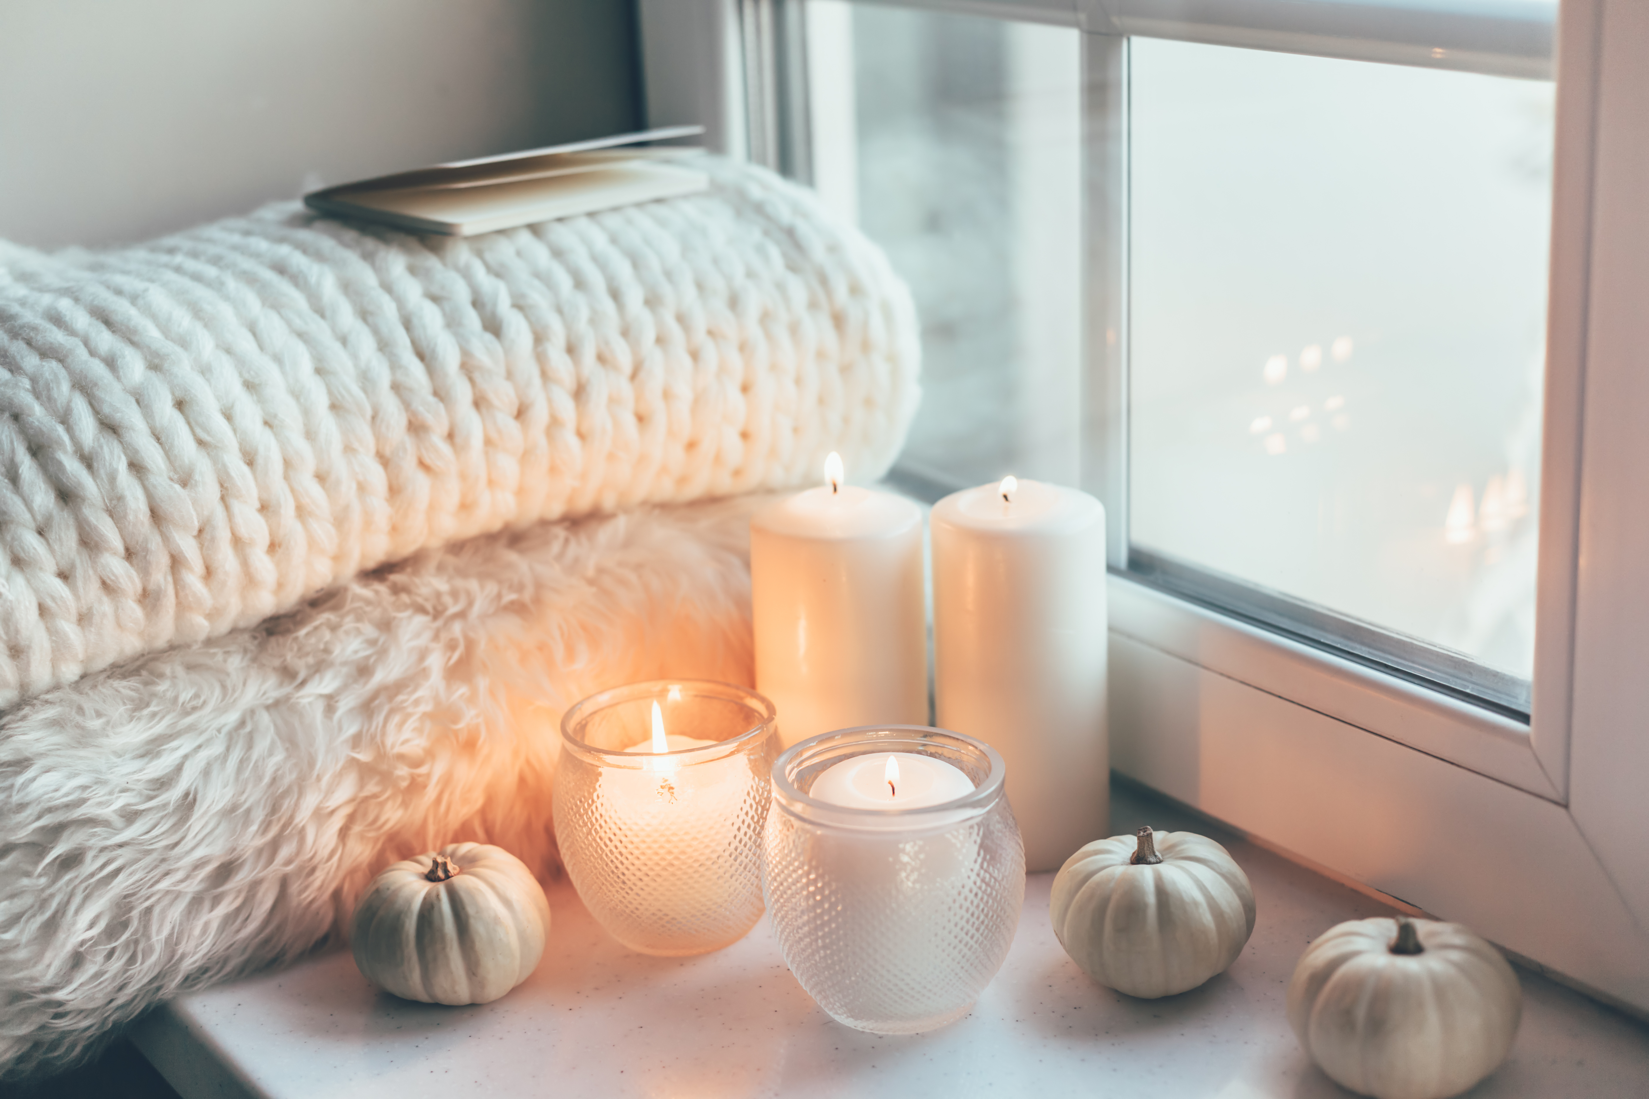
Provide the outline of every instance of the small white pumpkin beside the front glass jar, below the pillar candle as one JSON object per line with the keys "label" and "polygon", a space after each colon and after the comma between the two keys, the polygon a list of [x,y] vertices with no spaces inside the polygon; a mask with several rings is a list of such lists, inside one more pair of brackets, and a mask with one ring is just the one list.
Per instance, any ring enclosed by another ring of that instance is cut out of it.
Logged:
{"label": "small white pumpkin beside the front glass jar, below the pillar candle", "polygon": [[1192,832],[1095,840],[1065,860],[1054,934],[1102,985],[1153,1000],[1225,972],[1253,934],[1253,888],[1224,847]]}

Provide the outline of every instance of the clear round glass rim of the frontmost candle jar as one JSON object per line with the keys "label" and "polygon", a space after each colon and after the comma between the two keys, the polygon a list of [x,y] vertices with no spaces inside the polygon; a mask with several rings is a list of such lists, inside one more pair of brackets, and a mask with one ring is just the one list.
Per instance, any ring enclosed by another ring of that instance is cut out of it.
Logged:
{"label": "clear round glass rim of the frontmost candle jar", "polygon": [[[851,748],[856,745],[869,748],[869,751],[841,756],[843,760],[849,760],[856,755],[869,755],[871,751],[887,751],[887,745],[943,743],[945,740],[983,755],[989,763],[989,771],[971,793],[933,806],[922,806],[918,809],[838,806],[836,802],[803,794],[790,778],[790,771],[798,766],[803,756],[813,756],[833,748]],[[996,748],[991,748],[983,740],[933,725],[854,725],[853,728],[838,728],[829,733],[810,737],[787,748],[773,761],[773,804],[783,807],[792,816],[801,816],[816,824],[920,829],[955,824],[960,819],[984,812],[1003,797],[1006,781],[1008,765],[1003,763],[1003,756]]]}

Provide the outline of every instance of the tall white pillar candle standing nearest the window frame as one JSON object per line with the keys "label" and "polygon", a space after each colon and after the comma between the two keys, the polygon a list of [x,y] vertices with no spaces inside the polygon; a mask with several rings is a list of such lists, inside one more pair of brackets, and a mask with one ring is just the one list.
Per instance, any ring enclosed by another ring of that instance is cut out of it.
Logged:
{"label": "tall white pillar candle standing nearest the window frame", "polygon": [[1008,765],[1026,868],[1110,827],[1105,509],[1008,478],[933,506],[937,723]]}

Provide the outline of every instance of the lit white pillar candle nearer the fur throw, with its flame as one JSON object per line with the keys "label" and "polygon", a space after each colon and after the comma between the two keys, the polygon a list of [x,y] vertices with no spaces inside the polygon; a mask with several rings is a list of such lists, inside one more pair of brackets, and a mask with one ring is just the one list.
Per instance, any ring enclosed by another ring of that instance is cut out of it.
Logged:
{"label": "lit white pillar candle nearer the fur throw, with its flame", "polygon": [[922,512],[889,493],[826,483],[750,519],[755,689],[778,737],[927,723]]}

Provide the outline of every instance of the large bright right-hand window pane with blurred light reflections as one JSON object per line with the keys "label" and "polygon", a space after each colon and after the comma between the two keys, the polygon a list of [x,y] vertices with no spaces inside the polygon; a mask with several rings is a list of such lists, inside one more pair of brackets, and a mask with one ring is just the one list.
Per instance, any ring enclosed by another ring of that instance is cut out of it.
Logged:
{"label": "large bright right-hand window pane with blurred light reflections", "polygon": [[1527,677],[1553,86],[1130,49],[1131,542]]}

